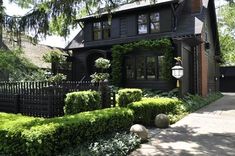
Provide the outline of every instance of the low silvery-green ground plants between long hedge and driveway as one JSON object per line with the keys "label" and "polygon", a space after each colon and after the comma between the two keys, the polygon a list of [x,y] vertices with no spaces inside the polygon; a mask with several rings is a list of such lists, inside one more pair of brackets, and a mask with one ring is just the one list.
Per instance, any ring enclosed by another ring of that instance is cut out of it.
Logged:
{"label": "low silvery-green ground plants between long hedge and driveway", "polygon": [[139,147],[141,139],[133,133],[114,133],[102,136],[102,138],[80,145],[76,148],[69,148],[62,156],[126,156],[130,151]]}

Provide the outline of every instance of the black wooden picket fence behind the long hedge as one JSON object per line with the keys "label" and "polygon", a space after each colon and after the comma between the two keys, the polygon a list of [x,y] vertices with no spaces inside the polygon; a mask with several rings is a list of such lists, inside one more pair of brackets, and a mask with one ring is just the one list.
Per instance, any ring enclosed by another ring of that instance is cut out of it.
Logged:
{"label": "black wooden picket fence behind the long hedge", "polygon": [[51,82],[0,82],[0,112],[21,113],[38,117],[62,116],[65,95],[83,90],[101,90],[102,106],[115,105],[115,94],[107,84],[67,81]]}

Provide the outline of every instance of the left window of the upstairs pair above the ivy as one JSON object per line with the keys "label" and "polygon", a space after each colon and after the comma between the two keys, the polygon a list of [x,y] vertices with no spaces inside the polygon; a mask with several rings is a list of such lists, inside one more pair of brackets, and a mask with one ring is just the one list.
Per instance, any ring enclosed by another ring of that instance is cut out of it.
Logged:
{"label": "left window of the upstairs pair above the ivy", "polygon": [[138,16],[138,34],[148,33],[148,15],[141,14]]}

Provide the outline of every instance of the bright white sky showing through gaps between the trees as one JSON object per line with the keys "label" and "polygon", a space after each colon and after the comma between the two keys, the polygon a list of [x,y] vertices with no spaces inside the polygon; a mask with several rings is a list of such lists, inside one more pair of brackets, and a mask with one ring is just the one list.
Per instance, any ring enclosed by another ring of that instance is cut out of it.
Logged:
{"label": "bright white sky showing through gaps between the trees", "polygon": [[[216,7],[225,4],[224,0],[215,0]],[[30,9],[22,9],[14,3],[9,3],[9,0],[3,0],[3,5],[6,8],[6,13],[8,15],[19,15],[22,16],[26,14]],[[48,36],[46,39],[41,39],[40,44],[49,45],[52,47],[64,48],[79,32],[79,29],[72,30],[71,34],[65,40],[63,37],[59,36]]]}

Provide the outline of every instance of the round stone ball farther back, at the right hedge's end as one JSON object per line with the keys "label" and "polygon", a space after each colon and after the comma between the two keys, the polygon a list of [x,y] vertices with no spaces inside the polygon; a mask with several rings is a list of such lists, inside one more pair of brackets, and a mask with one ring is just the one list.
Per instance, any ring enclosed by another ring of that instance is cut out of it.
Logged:
{"label": "round stone ball farther back, at the right hedge's end", "polygon": [[158,128],[168,128],[170,120],[166,114],[158,114],[154,120],[155,126]]}

